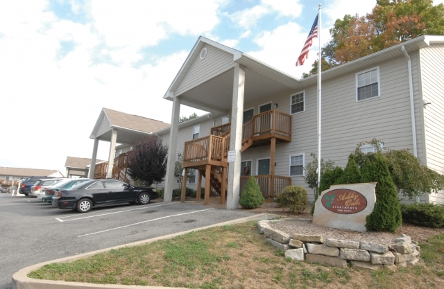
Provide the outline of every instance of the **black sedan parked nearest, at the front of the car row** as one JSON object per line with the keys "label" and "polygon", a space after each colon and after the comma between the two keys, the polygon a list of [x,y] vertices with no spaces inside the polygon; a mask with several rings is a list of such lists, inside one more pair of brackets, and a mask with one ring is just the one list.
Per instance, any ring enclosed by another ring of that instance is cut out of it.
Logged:
{"label": "black sedan parked nearest, at the front of the car row", "polygon": [[131,186],[116,179],[92,179],[74,188],[58,191],[52,202],[59,209],[77,209],[86,213],[95,206],[122,202],[148,204],[156,198],[159,194],[148,186]]}

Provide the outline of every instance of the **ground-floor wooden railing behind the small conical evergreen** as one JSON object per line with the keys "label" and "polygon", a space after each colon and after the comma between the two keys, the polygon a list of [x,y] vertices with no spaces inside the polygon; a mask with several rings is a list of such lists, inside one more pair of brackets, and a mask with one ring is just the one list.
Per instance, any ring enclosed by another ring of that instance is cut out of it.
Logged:
{"label": "ground-floor wooden railing behind the small conical evergreen", "polygon": [[[291,177],[280,175],[255,175],[257,184],[261,188],[262,195],[266,199],[274,199],[286,186],[291,186]],[[240,193],[250,177],[241,176]]]}

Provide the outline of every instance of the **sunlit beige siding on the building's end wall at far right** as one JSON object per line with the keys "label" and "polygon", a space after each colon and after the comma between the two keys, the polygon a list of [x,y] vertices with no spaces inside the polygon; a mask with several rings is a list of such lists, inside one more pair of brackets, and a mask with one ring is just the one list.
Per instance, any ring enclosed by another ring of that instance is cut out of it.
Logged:
{"label": "sunlit beige siding on the building's end wall at far right", "polygon": [[[432,45],[420,50],[422,98],[425,103],[425,139],[427,166],[444,174],[444,45]],[[444,192],[429,195],[430,202],[444,203]]]}

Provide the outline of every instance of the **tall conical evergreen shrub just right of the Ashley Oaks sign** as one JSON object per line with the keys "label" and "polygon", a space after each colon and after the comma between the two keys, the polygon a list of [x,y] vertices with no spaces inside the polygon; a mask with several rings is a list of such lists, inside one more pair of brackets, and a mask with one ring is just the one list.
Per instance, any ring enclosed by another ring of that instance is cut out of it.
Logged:
{"label": "tall conical evergreen shrub just right of the Ashley Oaks sign", "polygon": [[367,230],[394,233],[402,222],[400,202],[387,161],[380,152],[368,157],[362,168],[361,182],[377,182],[375,209],[366,218]]}

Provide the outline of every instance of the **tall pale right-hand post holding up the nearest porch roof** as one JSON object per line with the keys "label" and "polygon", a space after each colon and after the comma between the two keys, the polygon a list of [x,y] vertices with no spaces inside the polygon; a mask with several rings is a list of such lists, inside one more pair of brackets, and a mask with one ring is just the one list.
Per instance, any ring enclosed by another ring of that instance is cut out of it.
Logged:
{"label": "tall pale right-hand post holding up the nearest porch roof", "polygon": [[244,116],[245,71],[239,64],[234,67],[233,100],[231,112],[230,150],[236,151],[236,159],[228,168],[227,209],[239,207],[241,181],[242,117]]}

